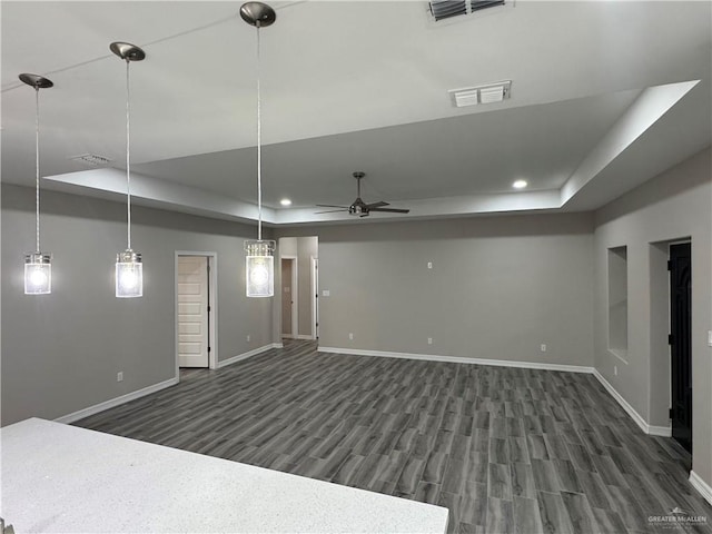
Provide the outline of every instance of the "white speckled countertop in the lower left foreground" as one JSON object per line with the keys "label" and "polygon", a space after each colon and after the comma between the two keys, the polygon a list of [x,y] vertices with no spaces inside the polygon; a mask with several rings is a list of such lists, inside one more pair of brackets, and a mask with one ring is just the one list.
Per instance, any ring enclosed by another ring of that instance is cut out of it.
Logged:
{"label": "white speckled countertop in the lower left foreground", "polygon": [[447,510],[42,419],[0,429],[28,532],[445,533]]}

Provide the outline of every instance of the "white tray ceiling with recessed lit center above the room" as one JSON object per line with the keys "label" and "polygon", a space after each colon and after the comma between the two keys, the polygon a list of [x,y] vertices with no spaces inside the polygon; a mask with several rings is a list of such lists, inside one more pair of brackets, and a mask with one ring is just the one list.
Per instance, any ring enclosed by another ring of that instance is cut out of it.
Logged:
{"label": "white tray ceiling with recessed lit center above the room", "polygon": [[[120,198],[125,67],[108,46],[123,40],[147,53],[131,65],[137,201],[255,218],[255,29],[239,6],[3,1],[2,180],[33,182],[34,98],[17,76],[36,72],[56,85],[40,93],[46,186]],[[354,170],[366,201],[409,218],[594,209],[711,142],[706,1],[517,0],[438,23],[427,2],[273,6],[260,33],[271,224],[347,219],[314,205],[350,204]],[[451,105],[448,89],[505,79],[510,100]],[[113,164],[68,159],[81,154]],[[520,178],[525,192],[512,191]]]}

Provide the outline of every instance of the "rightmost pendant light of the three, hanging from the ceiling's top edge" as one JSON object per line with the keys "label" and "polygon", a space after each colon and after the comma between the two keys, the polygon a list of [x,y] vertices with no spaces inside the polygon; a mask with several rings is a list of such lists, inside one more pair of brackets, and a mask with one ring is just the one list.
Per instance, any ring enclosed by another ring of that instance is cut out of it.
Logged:
{"label": "rightmost pendant light of the three, hanging from the ceiling's top edge", "polygon": [[257,29],[257,239],[245,241],[246,294],[248,297],[271,297],[275,294],[275,241],[263,239],[263,147],[261,95],[259,72],[259,29],[277,19],[275,10],[263,2],[247,2],[240,17]]}

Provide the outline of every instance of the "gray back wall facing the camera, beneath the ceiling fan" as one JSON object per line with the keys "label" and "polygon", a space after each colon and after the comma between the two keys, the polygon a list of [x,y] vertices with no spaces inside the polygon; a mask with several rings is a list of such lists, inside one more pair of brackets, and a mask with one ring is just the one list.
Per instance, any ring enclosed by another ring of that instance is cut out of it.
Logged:
{"label": "gray back wall facing the camera, beneath the ceiling fan", "polygon": [[581,214],[278,230],[318,236],[320,346],[582,366],[592,233]]}

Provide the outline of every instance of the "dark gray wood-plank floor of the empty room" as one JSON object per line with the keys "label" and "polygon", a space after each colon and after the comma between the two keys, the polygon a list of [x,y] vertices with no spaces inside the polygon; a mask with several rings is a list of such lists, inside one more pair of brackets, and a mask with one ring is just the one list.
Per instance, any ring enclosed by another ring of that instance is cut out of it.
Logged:
{"label": "dark gray wood-plank floor of the empty room", "polygon": [[[449,508],[451,532],[712,532],[690,457],[592,375],[288,342],[76,425]],[[708,525],[665,525],[673,508]],[[672,530],[671,530],[672,527]]]}

